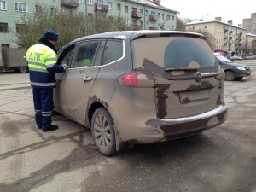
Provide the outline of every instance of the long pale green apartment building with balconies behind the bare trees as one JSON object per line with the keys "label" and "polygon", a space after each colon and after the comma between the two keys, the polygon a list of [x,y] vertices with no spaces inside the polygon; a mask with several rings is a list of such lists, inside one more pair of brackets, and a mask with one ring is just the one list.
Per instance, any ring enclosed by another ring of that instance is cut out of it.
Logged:
{"label": "long pale green apartment building with balconies behind the bare trees", "polygon": [[[62,9],[67,14],[119,16],[134,30],[175,30],[179,13],[162,6],[160,0],[0,0],[0,50],[19,48],[15,34],[22,26],[22,16],[40,13],[44,4],[51,14]],[[0,51],[0,67],[2,58]]]}

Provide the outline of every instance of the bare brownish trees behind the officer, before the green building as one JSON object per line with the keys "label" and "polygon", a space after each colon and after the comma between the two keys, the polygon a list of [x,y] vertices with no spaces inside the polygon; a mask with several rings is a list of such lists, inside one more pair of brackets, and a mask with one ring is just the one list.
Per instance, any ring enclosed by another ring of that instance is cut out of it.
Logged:
{"label": "bare brownish trees behind the officer, before the green building", "polygon": [[56,9],[55,14],[51,14],[49,10],[50,8],[43,4],[39,14],[27,14],[22,18],[22,30],[16,33],[17,44],[28,48],[38,43],[42,32],[49,28],[59,34],[58,48],[75,38],[90,34],[131,30],[131,27],[126,26],[125,20],[120,17],[112,18],[108,15],[100,17],[100,14],[96,16],[70,15],[61,9]]}

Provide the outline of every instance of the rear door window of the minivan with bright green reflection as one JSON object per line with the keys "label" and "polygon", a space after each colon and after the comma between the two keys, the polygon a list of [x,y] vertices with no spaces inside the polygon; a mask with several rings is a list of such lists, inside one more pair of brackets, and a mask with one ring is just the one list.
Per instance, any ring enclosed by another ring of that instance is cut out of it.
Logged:
{"label": "rear door window of the minivan with bright green reflection", "polygon": [[84,41],[79,44],[73,67],[90,67],[95,61],[96,50],[100,41]]}

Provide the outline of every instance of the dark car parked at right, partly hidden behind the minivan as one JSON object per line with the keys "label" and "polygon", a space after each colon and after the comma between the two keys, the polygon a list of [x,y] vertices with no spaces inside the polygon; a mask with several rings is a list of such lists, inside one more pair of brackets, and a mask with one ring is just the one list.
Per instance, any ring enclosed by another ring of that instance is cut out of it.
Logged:
{"label": "dark car parked at right, partly hidden behind the minivan", "polygon": [[214,54],[218,59],[219,65],[224,68],[225,80],[232,81],[235,79],[242,79],[251,75],[251,69],[247,65],[235,63],[230,61],[223,55]]}

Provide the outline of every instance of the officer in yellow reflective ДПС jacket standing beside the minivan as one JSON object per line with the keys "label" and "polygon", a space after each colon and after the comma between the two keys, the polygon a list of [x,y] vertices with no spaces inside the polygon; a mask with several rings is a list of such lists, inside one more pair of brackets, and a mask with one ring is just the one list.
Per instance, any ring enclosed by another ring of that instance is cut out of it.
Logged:
{"label": "officer in yellow reflective \u0414\u041f\u0421 jacket standing beside the minivan", "polygon": [[43,33],[38,44],[32,45],[26,52],[29,67],[29,77],[32,85],[35,120],[38,129],[54,131],[57,125],[51,124],[54,109],[53,88],[55,87],[55,73],[62,73],[66,65],[57,65],[57,51],[55,45],[58,34],[49,29]]}

